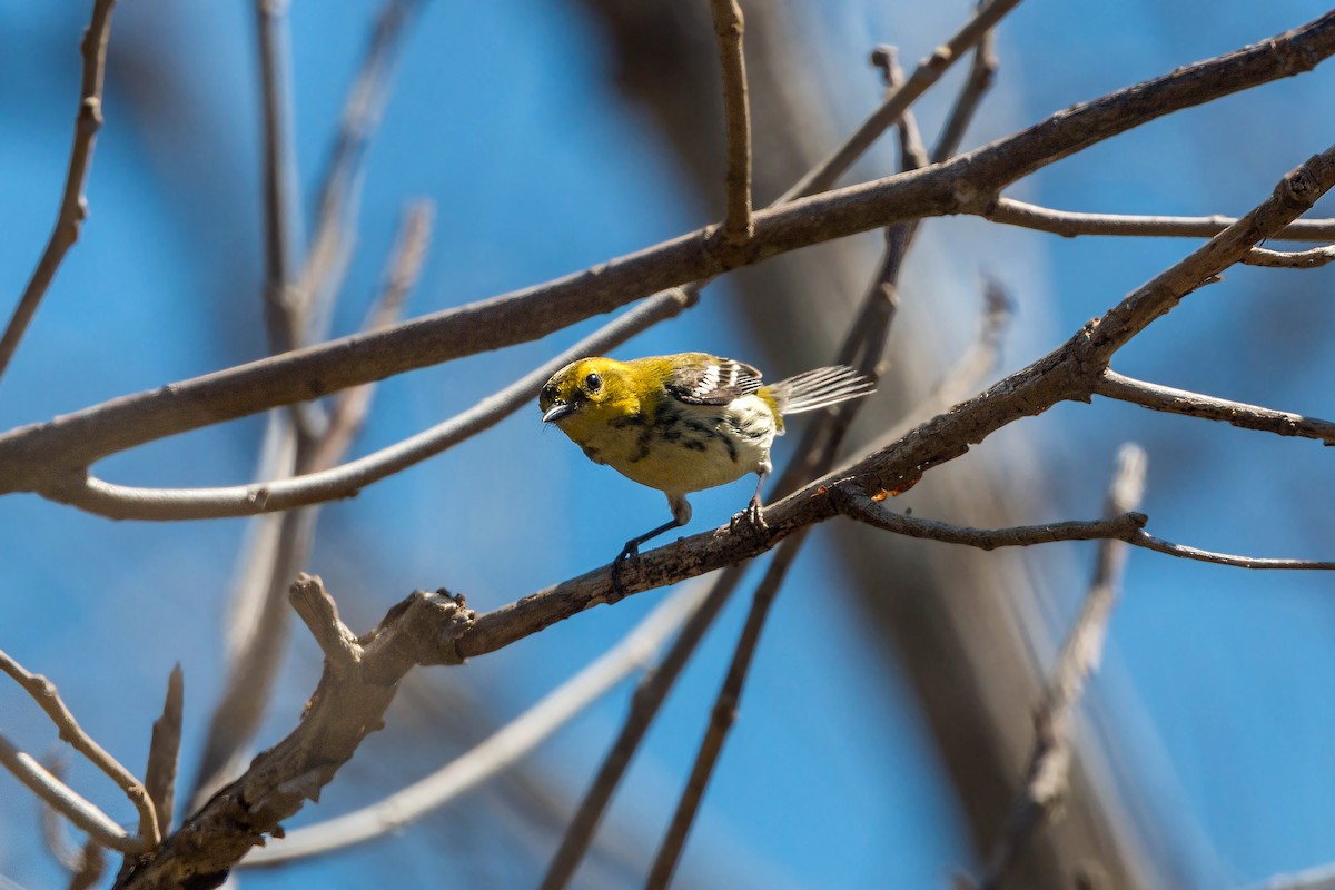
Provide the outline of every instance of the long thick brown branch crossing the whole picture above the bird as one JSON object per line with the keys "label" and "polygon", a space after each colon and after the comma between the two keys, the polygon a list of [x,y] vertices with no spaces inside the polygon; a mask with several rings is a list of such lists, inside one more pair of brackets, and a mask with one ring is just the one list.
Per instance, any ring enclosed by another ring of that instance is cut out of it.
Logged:
{"label": "long thick brown branch crossing the whole picture above the bird", "polygon": [[[1327,13],[1254,47],[1063,111],[951,161],[758,211],[756,238],[745,248],[712,242],[709,230],[701,230],[545,286],[13,430],[0,435],[0,492],[40,490],[60,499],[83,487],[84,467],[146,442],[538,339],[641,295],[817,242],[924,216],[984,213],[1001,188],[1045,164],[1173,111],[1310,69],[1332,52],[1335,13]],[[1267,230],[1266,238],[1278,231]]]}

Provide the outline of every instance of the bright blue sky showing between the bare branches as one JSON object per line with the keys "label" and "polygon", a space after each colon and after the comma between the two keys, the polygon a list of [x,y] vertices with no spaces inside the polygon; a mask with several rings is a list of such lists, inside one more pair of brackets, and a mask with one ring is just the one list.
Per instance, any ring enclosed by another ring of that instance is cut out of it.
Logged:
{"label": "bright blue sky showing between the bare branches", "polygon": [[[850,125],[876,101],[862,67],[866,49],[893,41],[905,60],[921,57],[972,4],[910,15],[884,5],[857,0],[805,11],[812,52],[832,77],[862,85],[836,109]],[[4,300],[19,292],[41,250],[64,179],[84,7],[0,11]],[[348,1],[335,15],[294,4],[295,124],[307,193],[374,8]],[[968,144],[1322,11],[1296,0],[1024,4],[1003,29],[996,93]],[[92,216],[0,383],[4,428],[264,351],[248,5],[127,0],[112,41],[107,127],[88,187]],[[563,275],[708,221],[705,208],[686,197],[690,189],[669,148],[621,101],[599,41],[593,24],[567,4],[426,4],[371,149],[338,331],[360,320],[399,209],[415,196],[434,199],[438,212],[413,314]],[[1330,144],[1332,71],[1328,63],[1157,121],[1045,169],[1013,193],[1068,209],[1246,211],[1283,172]],[[928,127],[940,117],[940,100],[932,101],[922,111]],[[868,165],[874,172],[888,160],[880,153]],[[967,287],[981,271],[975,251],[987,256],[989,271],[1016,284],[1020,315],[1005,356],[1005,370],[1013,370],[1191,247],[995,234],[973,220],[940,220],[928,226],[910,262],[905,296],[913,299],[914,287],[955,287],[956,279]],[[1324,348],[1332,283],[1324,271],[1235,270],[1156,323],[1116,367],[1171,386],[1335,415],[1327,386],[1332,359]],[[386,382],[358,451],[470,406],[595,323]],[[965,342],[972,330],[969,316],[945,336]],[[688,348],[742,359],[754,348],[726,287],[618,355]],[[1025,482],[1048,511],[1035,522],[1097,510],[1112,455],[1135,439],[1149,452],[1144,507],[1156,534],[1224,551],[1331,556],[1331,467],[1319,444],[1103,400],[1061,406],[1028,426],[1023,442],[1007,431],[984,450],[996,448],[1001,459],[1007,448],[1035,450],[1032,463],[1045,472]],[[259,420],[243,420],[155,443],[99,470],[139,484],[240,482],[254,471],[260,430]],[[722,523],[749,496],[749,484],[693,498],[690,531]],[[331,506],[311,567],[336,595],[346,591],[362,626],[414,587],[449,586],[467,592],[470,604],[491,608],[606,562],[629,534],[665,515],[658,492],[589,464],[558,434],[543,435],[534,408],[354,502]],[[31,496],[5,498],[0,647],[56,681],[83,725],[136,769],[167,671],[180,660],[186,743],[198,746],[222,682],[218,623],[243,528],[234,520],[112,523]],[[1069,588],[1057,604],[1069,614],[1092,548],[1064,546],[1027,559]],[[838,607],[846,602],[838,579],[833,555],[813,547],[778,600],[742,719],[688,850],[688,877],[697,869],[697,875],[725,875],[725,883],[741,881],[737,886],[746,879],[765,887],[944,886],[953,869],[971,865],[912,694],[894,677],[861,670],[878,640]],[[834,603],[818,634],[794,595],[800,591]],[[1258,881],[1335,857],[1327,831],[1335,818],[1330,594],[1331,580],[1314,574],[1132,554],[1091,703],[1112,747],[1144,778],[1157,818],[1172,829],[1200,886]],[[465,685],[505,719],[606,648],[659,598],[594,610],[449,677],[435,671],[433,681]],[[701,703],[717,687],[744,612],[740,596],[618,797],[614,818],[650,845],[693,757],[705,719]],[[306,639],[292,650],[266,743],[291,726],[311,689],[315,650]],[[610,697],[530,766],[558,790],[578,794],[625,706],[625,691]],[[0,687],[0,729],[20,743],[44,750],[52,742],[36,709],[15,690]],[[430,733],[421,741],[426,750],[414,766],[425,771],[431,769]],[[355,763],[374,761],[376,745],[372,739]],[[128,818],[89,770],[76,766],[72,775],[80,790]],[[23,886],[52,885],[59,878],[36,842],[35,806],[8,778],[0,777],[0,874]],[[331,789],[294,823],[358,794],[370,791]],[[387,842],[392,847],[244,883],[318,878],[326,886],[358,886],[356,875],[384,849],[402,857],[409,877],[425,881],[433,839],[454,825],[451,814],[462,813],[446,813],[417,837],[410,829]],[[505,878],[522,886],[531,875],[521,870]]]}

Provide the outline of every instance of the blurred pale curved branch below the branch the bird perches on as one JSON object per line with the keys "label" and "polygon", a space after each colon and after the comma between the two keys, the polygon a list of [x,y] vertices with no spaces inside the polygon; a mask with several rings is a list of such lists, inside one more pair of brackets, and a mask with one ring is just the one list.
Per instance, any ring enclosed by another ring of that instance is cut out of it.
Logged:
{"label": "blurred pale curved branch below the branch the bird perches on", "polygon": [[396,831],[450,803],[518,762],[643,666],[663,640],[694,614],[706,591],[701,584],[690,584],[663,600],[613,648],[431,775],[354,813],[290,831],[282,843],[256,849],[242,865],[274,866],[343,850]]}

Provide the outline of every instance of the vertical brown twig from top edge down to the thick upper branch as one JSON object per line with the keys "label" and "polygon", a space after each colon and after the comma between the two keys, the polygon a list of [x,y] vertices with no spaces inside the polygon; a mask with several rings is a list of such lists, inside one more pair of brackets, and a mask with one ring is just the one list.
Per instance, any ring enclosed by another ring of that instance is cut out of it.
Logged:
{"label": "vertical brown twig from top edge down to the thick upper branch", "polygon": [[745,19],[737,0],[710,0],[718,61],[724,69],[724,113],[728,120],[728,213],[724,238],[745,244],[752,226],[750,104],[746,97],[746,57],[742,53]]}

